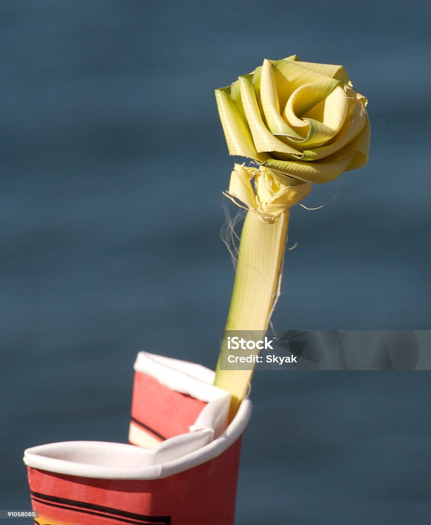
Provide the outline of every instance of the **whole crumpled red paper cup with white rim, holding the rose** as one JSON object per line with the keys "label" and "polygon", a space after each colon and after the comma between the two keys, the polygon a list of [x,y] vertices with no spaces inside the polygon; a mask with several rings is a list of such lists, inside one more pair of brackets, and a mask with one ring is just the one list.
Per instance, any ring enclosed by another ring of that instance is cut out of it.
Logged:
{"label": "whole crumpled red paper cup with white rim, holding the rose", "polygon": [[150,354],[137,367],[148,359],[156,366],[136,371],[132,414],[138,417],[132,423],[152,438],[153,448],[65,442],[27,449],[36,523],[233,525],[241,435],[251,403],[243,401],[224,429],[230,396],[211,384],[211,371]]}

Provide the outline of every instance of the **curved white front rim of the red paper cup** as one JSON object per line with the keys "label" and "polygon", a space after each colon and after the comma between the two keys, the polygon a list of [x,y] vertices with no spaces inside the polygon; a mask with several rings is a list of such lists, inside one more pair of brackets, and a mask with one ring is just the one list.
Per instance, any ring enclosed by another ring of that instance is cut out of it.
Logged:
{"label": "curved white front rim of the red paper cup", "polygon": [[70,441],[31,447],[24,463],[55,474],[96,479],[162,479],[214,459],[243,434],[252,405],[244,400],[228,428],[211,443],[160,465],[148,464],[152,450],[122,443]]}

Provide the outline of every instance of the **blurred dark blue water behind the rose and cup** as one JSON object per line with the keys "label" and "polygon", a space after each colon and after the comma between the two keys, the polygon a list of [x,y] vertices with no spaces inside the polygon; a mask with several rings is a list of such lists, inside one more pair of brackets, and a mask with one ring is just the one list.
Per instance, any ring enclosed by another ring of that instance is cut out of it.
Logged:
{"label": "blurred dark blue water behind the rose and cup", "polygon": [[[345,65],[372,123],[369,164],[292,211],[275,327],[431,328],[430,18],[405,1],[0,3],[0,508],[30,506],[25,448],[127,440],[139,350],[214,367],[235,159],[213,90],[265,57]],[[257,373],[237,525],[428,523],[430,393],[427,372]]]}

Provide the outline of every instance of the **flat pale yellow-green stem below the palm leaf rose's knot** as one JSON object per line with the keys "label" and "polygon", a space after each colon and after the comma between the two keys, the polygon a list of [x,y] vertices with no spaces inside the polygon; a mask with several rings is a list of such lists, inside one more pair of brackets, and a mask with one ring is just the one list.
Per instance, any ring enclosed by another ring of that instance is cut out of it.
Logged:
{"label": "flat pale yellow-green stem below the palm leaf rose's knot", "polygon": [[[278,297],[286,247],[289,209],[274,223],[247,212],[239,244],[234,289],[226,330],[261,331],[265,334]],[[244,399],[253,370],[220,370],[214,384],[232,394],[229,421]]]}

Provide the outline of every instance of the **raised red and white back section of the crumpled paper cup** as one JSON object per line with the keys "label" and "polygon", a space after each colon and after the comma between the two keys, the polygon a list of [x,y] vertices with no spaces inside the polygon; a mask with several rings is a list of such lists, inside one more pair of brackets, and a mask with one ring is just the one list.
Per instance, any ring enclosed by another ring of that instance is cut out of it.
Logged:
{"label": "raised red and white back section of the crumpled paper cup", "polygon": [[230,394],[213,385],[204,366],[140,352],[134,364],[129,442],[156,448],[198,428],[218,437],[226,428]]}

